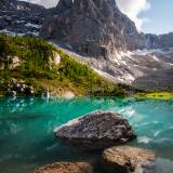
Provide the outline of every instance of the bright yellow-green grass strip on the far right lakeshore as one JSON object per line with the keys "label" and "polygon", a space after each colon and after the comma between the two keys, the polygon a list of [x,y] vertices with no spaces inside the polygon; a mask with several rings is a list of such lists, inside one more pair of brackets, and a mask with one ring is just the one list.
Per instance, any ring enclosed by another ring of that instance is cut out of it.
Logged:
{"label": "bright yellow-green grass strip on the far right lakeshore", "polygon": [[150,99],[173,99],[172,92],[156,92],[156,93],[138,93],[136,98],[150,98]]}

